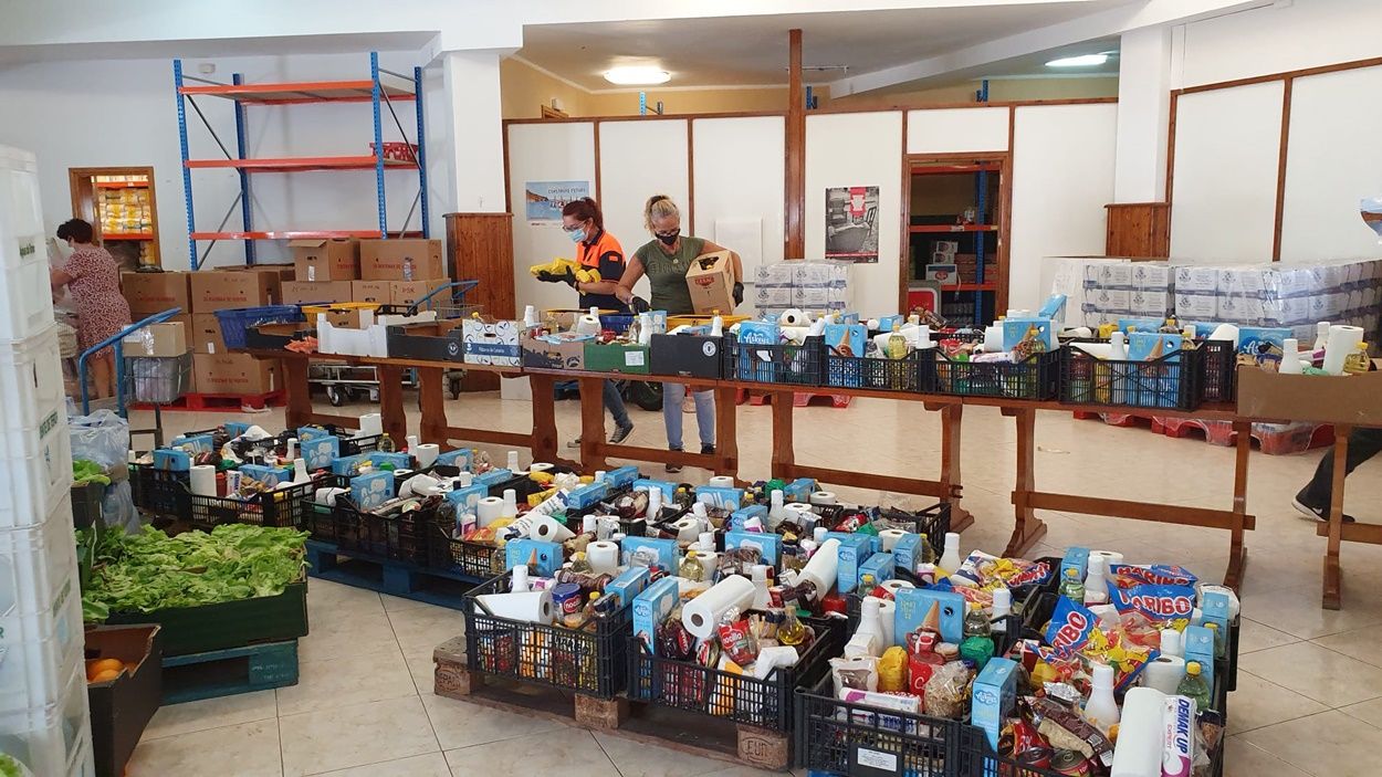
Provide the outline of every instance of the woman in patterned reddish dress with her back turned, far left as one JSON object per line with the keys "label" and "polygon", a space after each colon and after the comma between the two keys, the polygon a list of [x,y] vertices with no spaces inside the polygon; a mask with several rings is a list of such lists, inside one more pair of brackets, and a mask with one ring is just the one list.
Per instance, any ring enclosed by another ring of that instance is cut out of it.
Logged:
{"label": "woman in patterned reddish dress with her back turned, far left", "polygon": [[[120,294],[120,268],[104,247],[93,245],[91,224],[72,218],[58,227],[58,239],[66,241],[72,256],[61,270],[48,271],[54,297],[62,286],[72,292],[77,306],[77,346],[86,351],[130,325],[130,304]],[[93,393],[97,398],[115,395],[115,350],[106,346],[87,359],[91,364]]]}

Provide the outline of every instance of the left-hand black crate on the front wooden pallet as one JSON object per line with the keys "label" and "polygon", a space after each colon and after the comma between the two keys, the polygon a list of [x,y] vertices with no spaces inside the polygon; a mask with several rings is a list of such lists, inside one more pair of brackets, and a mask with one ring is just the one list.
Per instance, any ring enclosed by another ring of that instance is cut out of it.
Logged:
{"label": "left-hand black crate on the front wooden pallet", "polygon": [[507,593],[511,575],[506,572],[481,583],[462,599],[466,668],[597,698],[622,693],[632,608],[596,615],[589,630],[500,618],[485,610],[477,596]]}

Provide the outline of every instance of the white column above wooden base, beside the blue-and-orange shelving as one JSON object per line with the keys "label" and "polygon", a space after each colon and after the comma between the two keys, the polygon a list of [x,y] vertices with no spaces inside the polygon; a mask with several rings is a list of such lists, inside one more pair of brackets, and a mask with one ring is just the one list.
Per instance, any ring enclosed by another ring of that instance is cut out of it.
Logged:
{"label": "white column above wooden base, beside the blue-and-orange shelving", "polygon": [[503,112],[499,59],[507,51],[446,51],[442,61],[442,123],[451,133],[438,144],[446,152],[448,213],[502,213],[504,199]]}

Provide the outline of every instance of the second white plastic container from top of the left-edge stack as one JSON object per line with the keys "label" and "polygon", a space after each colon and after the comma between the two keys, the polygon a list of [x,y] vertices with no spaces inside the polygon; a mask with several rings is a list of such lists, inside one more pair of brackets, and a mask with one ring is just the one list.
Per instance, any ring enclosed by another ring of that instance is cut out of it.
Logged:
{"label": "second white plastic container from top of the left-edge stack", "polygon": [[72,488],[66,400],[35,415],[33,426],[0,426],[0,531],[41,523]]}

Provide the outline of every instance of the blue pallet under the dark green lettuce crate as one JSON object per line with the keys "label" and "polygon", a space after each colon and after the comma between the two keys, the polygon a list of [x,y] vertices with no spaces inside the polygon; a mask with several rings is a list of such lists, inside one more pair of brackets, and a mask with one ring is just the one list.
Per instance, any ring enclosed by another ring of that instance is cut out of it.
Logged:
{"label": "blue pallet under the dark green lettuce crate", "polygon": [[163,704],[296,684],[296,639],[163,658]]}

